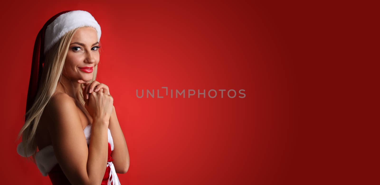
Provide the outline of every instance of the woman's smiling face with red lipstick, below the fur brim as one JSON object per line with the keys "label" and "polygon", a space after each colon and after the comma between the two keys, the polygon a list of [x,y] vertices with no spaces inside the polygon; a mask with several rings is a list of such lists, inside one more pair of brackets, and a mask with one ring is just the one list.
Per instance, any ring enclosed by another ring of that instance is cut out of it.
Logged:
{"label": "woman's smiling face with red lipstick, below the fur brim", "polygon": [[93,67],[99,63],[98,48],[95,28],[79,28],[71,39],[62,74],[73,82],[92,80]]}

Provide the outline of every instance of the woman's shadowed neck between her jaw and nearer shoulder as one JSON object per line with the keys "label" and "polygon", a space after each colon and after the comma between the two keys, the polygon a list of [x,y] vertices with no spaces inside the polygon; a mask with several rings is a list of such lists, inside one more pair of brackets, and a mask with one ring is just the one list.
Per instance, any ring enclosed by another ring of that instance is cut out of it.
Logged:
{"label": "woman's shadowed neck between her jaw and nearer shoulder", "polygon": [[64,75],[62,75],[61,82],[58,82],[55,92],[64,92],[74,99],[79,99],[81,94],[81,84],[71,81]]}

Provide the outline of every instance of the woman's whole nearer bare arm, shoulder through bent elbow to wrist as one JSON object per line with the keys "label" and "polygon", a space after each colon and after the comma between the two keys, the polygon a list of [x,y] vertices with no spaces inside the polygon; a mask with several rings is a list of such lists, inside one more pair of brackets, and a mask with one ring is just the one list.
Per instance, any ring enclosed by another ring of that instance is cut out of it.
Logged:
{"label": "woman's whole nearer bare arm, shoulder through bent elbow to wrist", "polygon": [[87,147],[79,113],[70,96],[56,94],[46,108],[52,118],[48,128],[54,154],[67,179],[73,185],[100,184],[107,165],[108,122],[93,119]]}

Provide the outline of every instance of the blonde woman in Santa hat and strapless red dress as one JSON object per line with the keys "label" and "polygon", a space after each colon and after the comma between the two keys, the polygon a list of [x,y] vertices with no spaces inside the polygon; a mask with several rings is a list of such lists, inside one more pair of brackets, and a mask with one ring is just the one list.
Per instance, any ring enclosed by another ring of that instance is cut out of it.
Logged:
{"label": "blonde woman in Santa hat and strapless red dress", "polygon": [[116,173],[129,168],[113,98],[95,80],[100,36],[90,13],[63,11],[46,22],[35,42],[17,152],[32,156],[53,185],[120,184]]}

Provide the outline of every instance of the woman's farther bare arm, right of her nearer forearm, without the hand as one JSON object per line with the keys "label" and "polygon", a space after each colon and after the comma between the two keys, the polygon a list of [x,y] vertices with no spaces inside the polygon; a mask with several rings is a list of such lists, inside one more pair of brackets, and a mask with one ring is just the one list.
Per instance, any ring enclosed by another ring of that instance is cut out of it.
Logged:
{"label": "woman's farther bare arm, right of her nearer forearm, without the hand", "polygon": [[119,121],[117,120],[115,106],[113,107],[111,117],[109,118],[109,130],[111,131],[112,139],[114,141],[114,150],[112,151],[112,158],[114,161],[115,170],[117,173],[125,174],[129,168],[129,153],[127,143],[123,132],[120,128]]}

